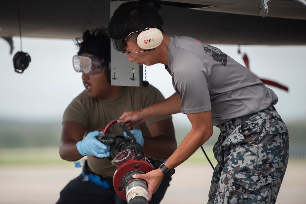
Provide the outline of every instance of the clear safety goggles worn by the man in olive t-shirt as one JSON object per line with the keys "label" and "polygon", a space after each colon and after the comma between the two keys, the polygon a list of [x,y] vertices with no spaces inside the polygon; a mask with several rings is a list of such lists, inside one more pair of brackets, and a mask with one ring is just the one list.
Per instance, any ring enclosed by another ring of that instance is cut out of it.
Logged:
{"label": "clear safety goggles worn by the man in olive t-shirt", "polygon": [[106,68],[104,60],[98,57],[85,57],[81,55],[74,55],[72,59],[73,68],[76,72],[83,72],[85,74],[101,73]]}

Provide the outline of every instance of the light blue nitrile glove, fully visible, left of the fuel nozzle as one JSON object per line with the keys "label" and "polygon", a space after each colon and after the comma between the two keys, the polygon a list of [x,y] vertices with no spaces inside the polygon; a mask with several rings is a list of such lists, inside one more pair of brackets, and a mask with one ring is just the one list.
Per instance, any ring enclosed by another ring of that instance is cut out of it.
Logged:
{"label": "light blue nitrile glove, fully visible, left of the fuel nozzle", "polygon": [[76,143],[76,148],[82,156],[92,155],[99,158],[110,156],[108,151],[110,146],[97,140],[99,133],[98,131],[90,132],[83,140]]}

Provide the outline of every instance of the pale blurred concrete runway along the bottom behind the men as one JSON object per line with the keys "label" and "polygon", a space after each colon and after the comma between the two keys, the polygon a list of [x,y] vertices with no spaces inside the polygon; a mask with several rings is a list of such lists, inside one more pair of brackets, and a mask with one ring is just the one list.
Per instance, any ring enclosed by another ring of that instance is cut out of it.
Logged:
{"label": "pale blurred concrete runway along the bottom behind the men", "polygon": [[[305,203],[306,163],[289,161],[277,204]],[[51,204],[69,180],[80,174],[80,168],[64,166],[0,166],[1,204]],[[185,162],[176,168],[161,204],[207,203],[212,168]]]}

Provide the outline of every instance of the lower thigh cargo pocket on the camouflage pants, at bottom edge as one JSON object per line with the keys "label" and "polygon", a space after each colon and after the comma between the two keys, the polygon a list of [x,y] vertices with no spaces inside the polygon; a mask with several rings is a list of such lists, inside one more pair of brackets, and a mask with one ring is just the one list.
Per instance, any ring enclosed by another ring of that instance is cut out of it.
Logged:
{"label": "lower thigh cargo pocket on the camouflage pants, at bottom edge", "polygon": [[231,172],[224,203],[270,203],[274,178],[245,172]]}

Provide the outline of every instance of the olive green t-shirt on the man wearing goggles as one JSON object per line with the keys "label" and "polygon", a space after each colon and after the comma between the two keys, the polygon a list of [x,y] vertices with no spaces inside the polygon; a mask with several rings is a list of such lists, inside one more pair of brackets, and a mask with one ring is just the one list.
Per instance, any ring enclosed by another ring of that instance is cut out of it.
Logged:
{"label": "olive green t-shirt on the man wearing goggles", "polygon": [[[86,128],[85,137],[89,132],[105,128],[110,121],[118,119],[124,111],[143,109],[164,99],[159,90],[151,85],[148,87],[124,87],[117,97],[110,100],[90,98],[88,93],[83,91],[66,108],[62,122],[73,121],[84,125]],[[171,118],[171,116],[151,118],[145,123],[133,125],[133,128],[140,129],[143,136],[151,137],[147,127],[167,118]],[[123,135],[123,129],[119,124],[113,124],[108,130]],[[149,155],[146,154],[146,156]],[[106,159],[87,156],[87,162],[93,172],[103,176],[114,176],[117,169]]]}

